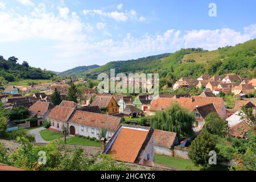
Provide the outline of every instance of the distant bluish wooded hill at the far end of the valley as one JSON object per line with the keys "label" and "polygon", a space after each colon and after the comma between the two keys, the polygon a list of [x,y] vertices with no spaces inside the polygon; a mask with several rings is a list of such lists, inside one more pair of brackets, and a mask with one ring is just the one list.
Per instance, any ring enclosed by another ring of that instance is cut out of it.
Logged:
{"label": "distant bluish wooded hill at the far end of the valley", "polygon": [[74,77],[84,77],[86,75],[86,72],[88,72],[91,69],[95,69],[100,67],[99,65],[90,65],[90,66],[81,66],[69,69],[67,71],[59,73],[60,76],[74,76]]}

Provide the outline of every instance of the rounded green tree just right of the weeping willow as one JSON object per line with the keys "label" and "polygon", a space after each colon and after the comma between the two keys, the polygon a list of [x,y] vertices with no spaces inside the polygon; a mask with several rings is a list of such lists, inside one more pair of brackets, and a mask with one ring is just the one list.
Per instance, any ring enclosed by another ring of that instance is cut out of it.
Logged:
{"label": "rounded green tree just right of the weeping willow", "polygon": [[225,136],[227,134],[227,125],[224,119],[221,119],[217,113],[210,113],[205,118],[204,129],[210,134]]}

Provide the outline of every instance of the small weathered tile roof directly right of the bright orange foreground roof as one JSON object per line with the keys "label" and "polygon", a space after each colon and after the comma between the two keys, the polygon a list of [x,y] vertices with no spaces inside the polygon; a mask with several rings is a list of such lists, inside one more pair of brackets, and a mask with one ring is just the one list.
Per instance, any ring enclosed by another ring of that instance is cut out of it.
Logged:
{"label": "small weathered tile roof directly right of the bright orange foreground roof", "polygon": [[170,131],[154,130],[155,146],[172,148],[177,134]]}

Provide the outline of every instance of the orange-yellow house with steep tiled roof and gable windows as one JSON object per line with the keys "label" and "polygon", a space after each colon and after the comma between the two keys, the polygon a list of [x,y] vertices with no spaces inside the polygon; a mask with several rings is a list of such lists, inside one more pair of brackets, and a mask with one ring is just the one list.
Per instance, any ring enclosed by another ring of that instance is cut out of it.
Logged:
{"label": "orange-yellow house with steep tiled roof and gable windows", "polygon": [[112,96],[96,96],[90,106],[98,106],[102,111],[109,114],[119,113],[117,101]]}

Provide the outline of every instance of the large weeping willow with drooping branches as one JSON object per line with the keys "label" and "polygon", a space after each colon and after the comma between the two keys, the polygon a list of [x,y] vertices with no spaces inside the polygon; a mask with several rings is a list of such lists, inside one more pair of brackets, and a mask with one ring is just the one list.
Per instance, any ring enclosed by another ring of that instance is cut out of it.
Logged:
{"label": "large weeping willow with drooping branches", "polygon": [[192,113],[174,104],[166,111],[157,111],[154,117],[150,118],[150,126],[153,129],[175,132],[182,138],[193,134],[192,126],[195,121]]}

